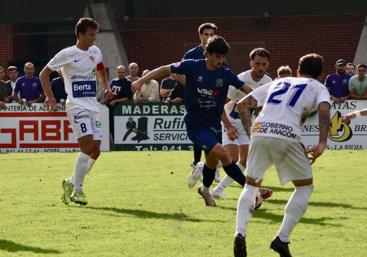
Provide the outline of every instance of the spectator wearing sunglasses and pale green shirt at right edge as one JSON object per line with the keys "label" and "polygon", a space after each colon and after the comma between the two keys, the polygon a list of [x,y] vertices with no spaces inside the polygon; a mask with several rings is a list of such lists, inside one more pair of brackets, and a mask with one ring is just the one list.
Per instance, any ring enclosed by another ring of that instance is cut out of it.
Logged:
{"label": "spectator wearing sunglasses and pale green shirt at right edge", "polygon": [[349,80],[349,94],[351,99],[367,99],[366,64],[357,65],[357,76]]}

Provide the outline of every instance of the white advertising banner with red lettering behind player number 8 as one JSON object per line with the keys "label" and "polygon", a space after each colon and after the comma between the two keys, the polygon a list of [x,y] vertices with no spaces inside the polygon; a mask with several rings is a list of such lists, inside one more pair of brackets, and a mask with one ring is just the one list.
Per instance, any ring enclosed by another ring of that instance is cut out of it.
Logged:
{"label": "white advertising banner with red lettering behind player number 8", "polygon": [[[6,104],[0,109],[0,153],[78,152],[79,144],[71,129],[65,106],[50,112],[43,104]],[[99,105],[102,119],[101,151],[109,151],[108,108]]]}

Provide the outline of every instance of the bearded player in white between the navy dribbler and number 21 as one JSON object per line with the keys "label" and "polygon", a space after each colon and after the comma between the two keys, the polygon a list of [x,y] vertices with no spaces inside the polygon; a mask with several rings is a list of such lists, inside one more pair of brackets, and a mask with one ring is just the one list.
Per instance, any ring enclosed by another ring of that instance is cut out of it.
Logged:
{"label": "bearded player in white between the navy dribbler and number 21", "polygon": [[[261,87],[273,80],[265,75],[266,69],[269,66],[270,54],[264,48],[255,48],[250,53],[250,65],[251,69],[242,72],[238,75],[239,79],[250,85],[252,88]],[[225,120],[222,123],[222,138],[223,146],[228,150],[232,156],[233,161],[236,162],[237,166],[243,172],[246,169],[246,160],[248,154],[248,144],[250,142],[246,131],[243,129],[240,116],[237,112],[237,102],[246,96],[245,93],[237,90],[236,88],[229,86],[226,105],[224,106],[227,118],[229,122],[236,127],[239,132],[238,138],[230,140],[227,136],[227,131],[224,125]],[[240,160],[238,160],[238,154],[240,154]],[[219,167],[217,167],[219,169]],[[233,179],[226,175],[224,179],[211,191],[211,196],[214,198],[231,199],[224,194],[224,189],[229,187],[233,183]],[[266,188],[260,188],[259,192],[263,199],[269,198],[272,195],[272,191]]]}

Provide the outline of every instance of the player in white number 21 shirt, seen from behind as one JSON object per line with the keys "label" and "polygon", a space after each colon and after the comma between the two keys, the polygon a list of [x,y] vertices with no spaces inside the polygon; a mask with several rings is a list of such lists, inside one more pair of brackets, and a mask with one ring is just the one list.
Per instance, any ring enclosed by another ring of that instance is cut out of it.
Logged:
{"label": "player in white number 21 shirt, seen from behind", "polygon": [[[330,127],[330,94],[323,84],[323,58],[308,54],[299,59],[297,78],[285,77],[252,91],[237,104],[243,127],[251,135],[246,185],[238,200],[234,255],[247,256],[246,227],[254,212],[255,196],[266,170],[275,165],[280,184],[289,181],[295,190],[289,199],[277,236],[270,248],[290,257],[288,238],[301,220],[313,191],[313,164],[324,151]],[[263,106],[251,132],[250,109]],[[319,144],[305,151],[300,127],[313,108],[319,111]],[[312,156],[308,157],[307,153]],[[311,162],[310,162],[311,160]]]}

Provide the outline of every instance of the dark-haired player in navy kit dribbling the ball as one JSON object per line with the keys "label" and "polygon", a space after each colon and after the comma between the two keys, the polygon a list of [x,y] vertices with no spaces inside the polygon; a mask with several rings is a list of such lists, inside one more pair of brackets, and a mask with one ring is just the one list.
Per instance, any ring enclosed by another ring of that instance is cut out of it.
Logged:
{"label": "dark-haired player in navy kit dribbling the ball", "polygon": [[[203,196],[207,206],[215,206],[209,188],[214,180],[218,159],[221,160],[224,171],[236,182],[244,185],[246,180],[228,151],[222,146],[221,116],[229,85],[246,94],[250,93],[253,88],[238,79],[232,71],[222,66],[228,51],[229,46],[223,37],[210,37],[205,47],[206,59],[189,59],[161,66],[131,84],[131,90],[135,93],[148,80],[170,73],[186,75],[186,113],[183,119],[188,137],[205,152],[203,183],[199,187],[198,193]],[[233,127],[231,130],[233,134],[230,135],[230,138],[234,139],[237,135],[235,135]],[[194,185],[199,177],[200,174],[193,176],[192,183]]]}

